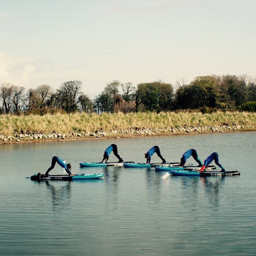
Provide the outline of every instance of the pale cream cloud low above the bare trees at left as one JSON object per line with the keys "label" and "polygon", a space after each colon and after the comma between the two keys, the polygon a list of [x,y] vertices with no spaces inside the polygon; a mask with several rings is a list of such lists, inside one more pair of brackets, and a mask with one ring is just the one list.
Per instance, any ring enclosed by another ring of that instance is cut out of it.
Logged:
{"label": "pale cream cloud low above the bare trees at left", "polygon": [[0,52],[0,84],[12,83],[26,89],[35,88],[40,84],[58,87],[66,80],[78,79],[84,70],[83,65],[67,68],[48,59],[20,57]]}

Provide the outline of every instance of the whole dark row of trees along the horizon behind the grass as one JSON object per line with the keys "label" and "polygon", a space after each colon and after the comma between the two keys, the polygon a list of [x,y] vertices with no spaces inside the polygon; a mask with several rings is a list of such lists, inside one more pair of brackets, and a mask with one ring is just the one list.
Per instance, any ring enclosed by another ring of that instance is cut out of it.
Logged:
{"label": "whole dark row of trees along the horizon behind the grass", "polygon": [[[174,88],[175,87],[175,88]],[[114,80],[91,100],[82,92],[81,81],[69,81],[54,92],[50,85],[40,85],[25,91],[10,83],[0,85],[0,113],[34,113],[43,115],[63,111],[98,114],[135,111],[173,111],[200,109],[256,111],[256,79],[247,76],[198,76],[189,84],[184,77],[176,84],[161,80],[152,83],[122,84]]]}

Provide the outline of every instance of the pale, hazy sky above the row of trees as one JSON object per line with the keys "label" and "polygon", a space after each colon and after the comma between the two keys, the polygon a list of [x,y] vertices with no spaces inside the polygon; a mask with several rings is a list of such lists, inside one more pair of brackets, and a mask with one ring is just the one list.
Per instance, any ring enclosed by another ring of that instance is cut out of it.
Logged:
{"label": "pale, hazy sky above the row of trees", "polygon": [[0,84],[256,76],[255,0],[0,0]]}

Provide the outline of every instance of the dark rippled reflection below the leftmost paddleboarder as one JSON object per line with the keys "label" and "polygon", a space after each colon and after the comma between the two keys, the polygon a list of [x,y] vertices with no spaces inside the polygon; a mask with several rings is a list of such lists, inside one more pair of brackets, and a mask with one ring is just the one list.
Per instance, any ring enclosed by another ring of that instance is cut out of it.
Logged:
{"label": "dark rippled reflection below the leftmost paddleboarder", "polygon": [[[71,181],[44,181],[52,196],[52,212],[64,210],[71,199]],[[64,182],[64,185],[63,185]]]}

